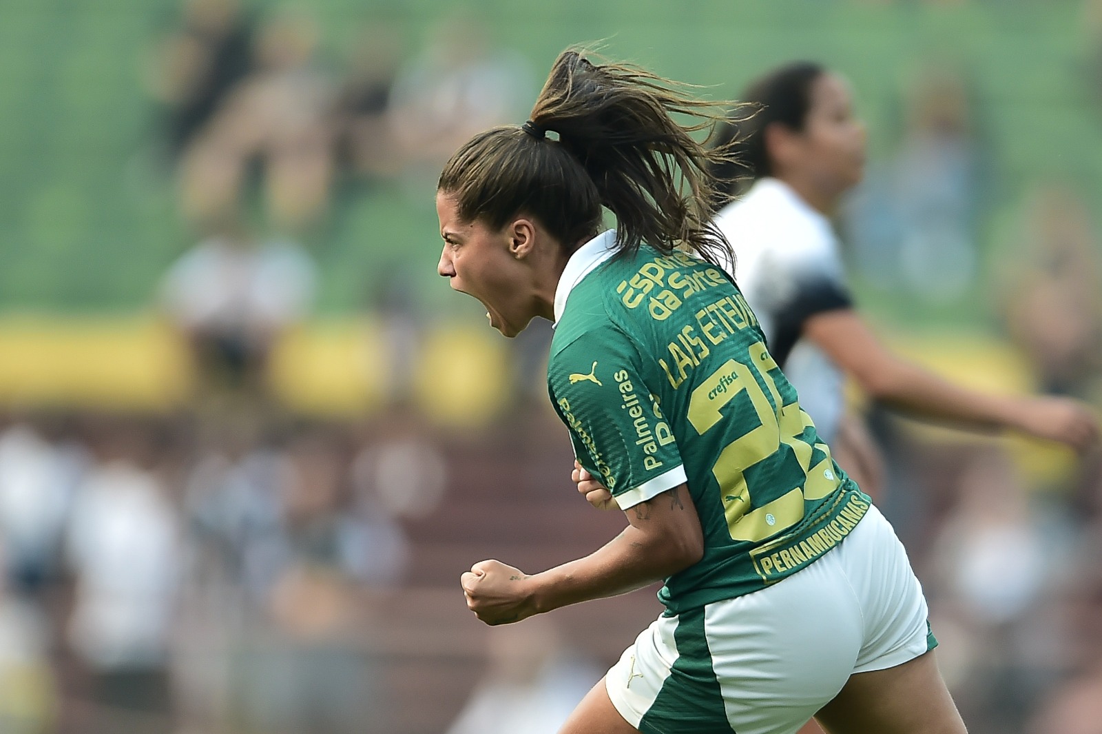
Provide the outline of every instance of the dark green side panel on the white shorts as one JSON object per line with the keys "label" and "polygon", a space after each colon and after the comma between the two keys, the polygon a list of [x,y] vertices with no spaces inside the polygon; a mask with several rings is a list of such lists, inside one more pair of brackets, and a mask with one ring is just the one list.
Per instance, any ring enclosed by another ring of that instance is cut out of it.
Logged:
{"label": "dark green side panel on the white shorts", "polygon": [[720,681],[704,637],[704,607],[678,615],[673,632],[678,659],[647,713],[639,722],[644,734],[715,734],[733,731],[723,708]]}

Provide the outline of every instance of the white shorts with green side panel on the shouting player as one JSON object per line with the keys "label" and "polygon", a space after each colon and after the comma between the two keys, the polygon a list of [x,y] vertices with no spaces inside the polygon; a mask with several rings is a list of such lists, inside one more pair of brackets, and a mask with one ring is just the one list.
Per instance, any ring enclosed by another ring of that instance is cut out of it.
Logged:
{"label": "white shorts with green side panel on the shouting player", "polygon": [[645,734],[791,734],[852,673],[937,645],[895,530],[871,507],[818,561],[761,591],[659,617],[605,677]]}

